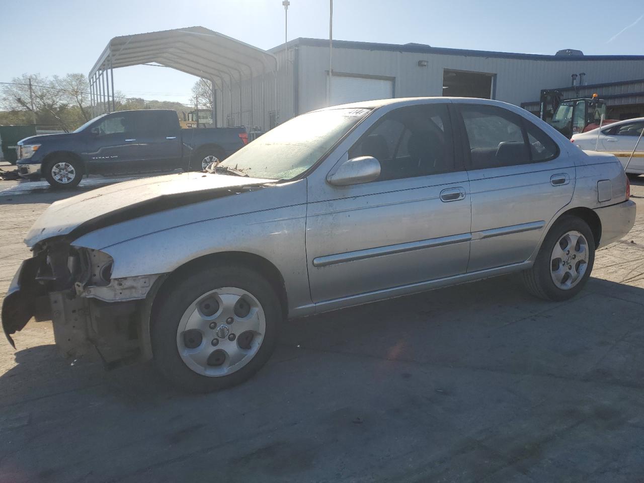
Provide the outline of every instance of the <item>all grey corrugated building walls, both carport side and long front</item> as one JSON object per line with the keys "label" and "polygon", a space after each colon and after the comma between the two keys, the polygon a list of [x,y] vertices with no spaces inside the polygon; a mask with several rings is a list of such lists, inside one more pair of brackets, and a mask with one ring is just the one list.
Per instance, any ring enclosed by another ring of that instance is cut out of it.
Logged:
{"label": "all grey corrugated building walls, both carport side and long front", "polygon": [[[227,84],[217,90],[217,125],[269,129],[271,111],[280,124],[294,115],[327,106],[328,48],[296,44],[290,46],[288,75],[284,50],[272,51],[278,59],[278,72],[267,71],[240,85]],[[427,61],[421,67],[418,61]],[[571,74],[585,72],[586,84],[625,81],[644,77],[644,61],[631,60],[541,60],[475,57],[438,53],[392,52],[334,48],[336,74],[371,75],[394,79],[394,97],[440,96],[443,70],[477,71],[493,74],[494,98],[512,104],[538,100],[542,89],[560,88],[571,83]],[[294,70],[298,82],[294,83]],[[229,82],[227,79],[226,82]],[[277,81],[277,88],[276,88]],[[216,81],[219,83],[219,81]],[[294,88],[299,94],[296,96]],[[222,95],[223,94],[223,95]],[[297,102],[294,99],[297,97]],[[241,106],[240,106],[241,104]]]}

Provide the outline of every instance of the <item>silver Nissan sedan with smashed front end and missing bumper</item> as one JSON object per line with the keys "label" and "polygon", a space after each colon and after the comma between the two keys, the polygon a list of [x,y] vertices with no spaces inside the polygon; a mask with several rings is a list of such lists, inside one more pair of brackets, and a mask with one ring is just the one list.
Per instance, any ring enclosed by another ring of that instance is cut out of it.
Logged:
{"label": "silver Nissan sedan with smashed front end and missing bumper", "polygon": [[186,390],[245,381],[280,323],[520,272],[573,297],[632,227],[615,156],[585,153],[493,100],[390,99],[313,111],[203,173],[51,205],[3,302],[9,340],[154,359]]}

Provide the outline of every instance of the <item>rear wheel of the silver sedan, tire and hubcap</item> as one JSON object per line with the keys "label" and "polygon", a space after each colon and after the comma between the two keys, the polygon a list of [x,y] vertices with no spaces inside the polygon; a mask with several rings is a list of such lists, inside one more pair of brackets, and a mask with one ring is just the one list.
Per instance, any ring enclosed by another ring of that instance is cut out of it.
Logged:
{"label": "rear wheel of the silver sedan, tire and hubcap", "polygon": [[576,216],[557,220],[536,256],[523,272],[526,288],[538,298],[562,301],[574,297],[588,281],[595,260],[595,240]]}

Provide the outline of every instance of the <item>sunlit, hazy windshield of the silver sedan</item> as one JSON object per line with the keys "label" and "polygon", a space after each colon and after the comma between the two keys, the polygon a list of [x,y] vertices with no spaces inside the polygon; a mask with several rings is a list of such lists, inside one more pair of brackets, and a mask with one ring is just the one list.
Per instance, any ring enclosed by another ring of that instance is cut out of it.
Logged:
{"label": "sunlit, hazy windshield of the silver sedan", "polygon": [[290,180],[313,166],[370,109],[329,109],[280,124],[219,164],[252,178]]}

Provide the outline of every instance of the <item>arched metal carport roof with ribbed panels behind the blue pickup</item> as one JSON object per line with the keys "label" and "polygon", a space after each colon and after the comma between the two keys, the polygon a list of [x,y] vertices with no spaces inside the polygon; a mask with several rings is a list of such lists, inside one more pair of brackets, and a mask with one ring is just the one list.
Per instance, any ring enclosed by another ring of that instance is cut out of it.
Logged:
{"label": "arched metal carport roof with ribbed panels behind the blue pickup", "polygon": [[[114,37],[91,68],[91,105],[94,115],[116,109],[113,70],[135,65],[155,65],[173,68],[207,79],[222,93],[227,91],[232,114],[232,87],[238,86],[240,120],[242,116],[242,84],[248,82],[250,99],[247,106],[253,124],[253,79],[261,78],[261,102],[265,102],[266,75],[274,76],[274,96],[277,104],[277,58],[272,53],[232,39],[204,27],[178,28],[161,32],[137,33]],[[261,109],[266,111],[265,107]],[[223,106],[222,106],[223,113]],[[216,117],[213,105],[213,119]]]}

